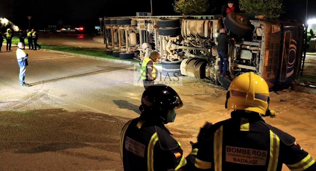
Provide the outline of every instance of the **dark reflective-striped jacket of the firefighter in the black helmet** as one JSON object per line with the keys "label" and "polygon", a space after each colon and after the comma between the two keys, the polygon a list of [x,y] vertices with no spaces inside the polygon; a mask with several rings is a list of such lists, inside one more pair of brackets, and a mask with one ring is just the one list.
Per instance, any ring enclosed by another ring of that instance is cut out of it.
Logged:
{"label": "dark reflective-striped jacket of the firefighter in the black helmet", "polygon": [[[186,158],[180,143],[171,135],[163,123],[145,121],[142,116],[127,122],[120,138],[124,171],[183,170]],[[189,156],[195,158],[196,152],[193,149]]]}

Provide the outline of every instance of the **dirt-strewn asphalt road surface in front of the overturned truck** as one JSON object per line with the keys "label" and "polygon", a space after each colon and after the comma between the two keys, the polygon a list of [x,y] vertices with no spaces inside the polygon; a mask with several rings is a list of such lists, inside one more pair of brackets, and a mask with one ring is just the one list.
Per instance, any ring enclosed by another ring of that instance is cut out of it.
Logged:
{"label": "dirt-strewn asphalt road surface in front of the overturned truck", "polygon": [[[103,46],[90,35],[67,36],[74,46],[80,41]],[[41,35],[40,42],[70,44],[67,36]],[[26,88],[19,84],[16,47],[12,49],[0,53],[0,170],[123,170],[119,134],[127,120],[139,116],[144,90],[135,85],[134,66],[26,50]],[[184,106],[167,127],[187,155],[189,141],[196,141],[206,120],[230,117],[224,108],[226,91],[186,77],[173,88]],[[315,95],[283,90],[271,92],[270,99],[269,107],[278,115],[265,121],[296,137],[315,159]]]}

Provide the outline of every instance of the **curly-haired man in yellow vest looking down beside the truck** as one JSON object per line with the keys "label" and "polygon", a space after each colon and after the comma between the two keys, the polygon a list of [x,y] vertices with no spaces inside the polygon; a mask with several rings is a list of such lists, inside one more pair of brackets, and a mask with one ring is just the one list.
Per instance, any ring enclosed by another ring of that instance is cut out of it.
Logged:
{"label": "curly-haired man in yellow vest looking down beside the truck", "polygon": [[144,88],[147,89],[148,86],[153,85],[156,79],[156,68],[155,62],[160,58],[160,54],[153,51],[149,54],[149,57],[144,58],[140,63],[142,68],[140,71],[140,78],[143,80]]}

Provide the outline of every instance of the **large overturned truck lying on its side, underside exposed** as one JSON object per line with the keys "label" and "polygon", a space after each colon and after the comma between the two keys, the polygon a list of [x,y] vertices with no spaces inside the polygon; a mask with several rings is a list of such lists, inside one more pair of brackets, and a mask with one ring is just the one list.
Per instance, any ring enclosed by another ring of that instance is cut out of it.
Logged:
{"label": "large overturned truck lying on its side, underside exposed", "polygon": [[236,76],[250,71],[263,77],[270,90],[285,89],[302,71],[304,24],[229,13],[224,25],[234,37],[228,52],[228,78],[217,74],[220,15],[105,17],[106,53],[142,60],[157,51],[163,75],[218,81],[225,89]]}

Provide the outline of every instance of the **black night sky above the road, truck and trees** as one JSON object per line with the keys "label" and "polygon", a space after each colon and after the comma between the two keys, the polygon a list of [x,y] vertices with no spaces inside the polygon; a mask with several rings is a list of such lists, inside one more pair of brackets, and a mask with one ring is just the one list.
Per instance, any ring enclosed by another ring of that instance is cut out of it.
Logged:
{"label": "black night sky above the road, truck and trees", "polygon": [[[2,1],[2,0],[1,0]],[[28,27],[27,16],[32,16],[31,27],[47,25],[94,27],[100,25],[99,17],[135,16],[136,12],[150,12],[150,0],[8,0],[12,3],[17,24]],[[153,15],[179,15],[173,11],[173,0],[152,0]],[[285,14],[281,19],[305,21],[305,0],[284,0]],[[216,0],[216,14],[220,14],[226,0]],[[238,5],[238,0],[235,0]],[[316,0],[308,0],[307,19],[316,17]],[[21,26],[20,26],[21,27]]]}

